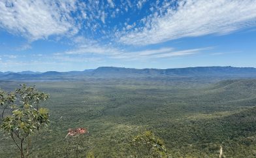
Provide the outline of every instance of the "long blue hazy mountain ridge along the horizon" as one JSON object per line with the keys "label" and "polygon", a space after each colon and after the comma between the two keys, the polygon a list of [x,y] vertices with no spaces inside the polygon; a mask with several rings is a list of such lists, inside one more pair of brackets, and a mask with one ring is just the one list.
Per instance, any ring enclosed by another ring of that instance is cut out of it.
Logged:
{"label": "long blue hazy mountain ridge along the horizon", "polygon": [[0,72],[0,80],[73,80],[84,77],[123,78],[123,77],[256,77],[253,67],[187,67],[175,69],[133,69],[124,67],[99,67],[85,71],[69,72]]}

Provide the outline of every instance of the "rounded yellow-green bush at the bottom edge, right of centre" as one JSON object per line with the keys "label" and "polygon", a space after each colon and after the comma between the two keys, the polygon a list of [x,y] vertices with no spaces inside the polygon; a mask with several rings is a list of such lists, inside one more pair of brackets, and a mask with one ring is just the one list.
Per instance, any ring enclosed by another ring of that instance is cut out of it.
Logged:
{"label": "rounded yellow-green bush at the bottom edge, right of centre", "polygon": [[135,157],[167,157],[167,150],[163,140],[155,136],[152,131],[138,134],[131,140],[131,145],[136,148]]}

